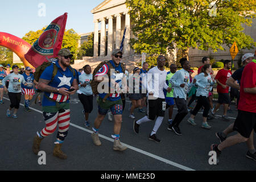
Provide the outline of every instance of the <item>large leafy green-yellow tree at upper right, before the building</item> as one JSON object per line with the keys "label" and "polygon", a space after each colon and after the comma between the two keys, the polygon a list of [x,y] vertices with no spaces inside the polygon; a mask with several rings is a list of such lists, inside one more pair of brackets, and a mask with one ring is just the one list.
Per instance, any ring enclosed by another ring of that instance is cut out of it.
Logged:
{"label": "large leafy green-yellow tree at upper right, before the building", "polygon": [[[213,5],[213,3],[215,4]],[[251,26],[255,1],[251,0],[127,0],[133,24],[131,46],[136,52],[165,54],[179,48],[214,52],[236,41],[239,49],[256,46],[242,24]]]}

